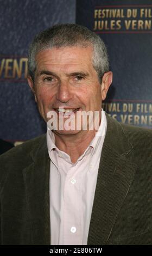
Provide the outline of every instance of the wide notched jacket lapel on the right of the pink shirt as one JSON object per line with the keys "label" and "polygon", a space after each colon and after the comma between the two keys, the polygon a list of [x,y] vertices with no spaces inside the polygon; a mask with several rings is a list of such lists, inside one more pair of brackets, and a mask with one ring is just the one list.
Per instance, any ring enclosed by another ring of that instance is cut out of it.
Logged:
{"label": "wide notched jacket lapel on the right of the pink shirt", "polygon": [[126,159],[133,147],[121,124],[106,117],[107,132],[100,158],[88,245],[107,243],[137,168],[135,163]]}

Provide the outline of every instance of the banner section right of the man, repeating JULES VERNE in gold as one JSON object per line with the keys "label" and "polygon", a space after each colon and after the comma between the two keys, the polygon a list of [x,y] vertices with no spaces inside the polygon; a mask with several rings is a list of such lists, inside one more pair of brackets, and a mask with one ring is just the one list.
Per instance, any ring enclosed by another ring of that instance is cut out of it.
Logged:
{"label": "banner section right of the man, repeating JULES VERNE in gold", "polygon": [[76,22],[107,46],[113,83],[104,110],[121,123],[152,128],[152,1],[77,0]]}

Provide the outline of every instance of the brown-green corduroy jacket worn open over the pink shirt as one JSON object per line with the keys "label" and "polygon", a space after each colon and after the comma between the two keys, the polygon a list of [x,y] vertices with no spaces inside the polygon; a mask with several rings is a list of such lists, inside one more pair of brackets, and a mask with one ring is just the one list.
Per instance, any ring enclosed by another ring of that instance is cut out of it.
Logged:
{"label": "brown-green corduroy jacket worn open over the pink shirt", "polygon": [[[152,131],[107,117],[88,245],[152,245]],[[46,135],[0,157],[1,245],[50,245]]]}

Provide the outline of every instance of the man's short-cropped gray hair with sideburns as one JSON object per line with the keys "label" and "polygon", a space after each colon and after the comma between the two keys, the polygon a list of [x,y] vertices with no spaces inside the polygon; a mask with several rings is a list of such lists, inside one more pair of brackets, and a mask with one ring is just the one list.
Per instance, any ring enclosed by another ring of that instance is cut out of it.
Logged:
{"label": "man's short-cropped gray hair with sideburns", "polygon": [[53,47],[92,46],[92,65],[101,82],[105,72],[109,71],[106,46],[100,37],[88,28],[77,24],[55,25],[37,34],[31,42],[28,56],[28,74],[34,81],[36,70],[35,56],[40,51]]}

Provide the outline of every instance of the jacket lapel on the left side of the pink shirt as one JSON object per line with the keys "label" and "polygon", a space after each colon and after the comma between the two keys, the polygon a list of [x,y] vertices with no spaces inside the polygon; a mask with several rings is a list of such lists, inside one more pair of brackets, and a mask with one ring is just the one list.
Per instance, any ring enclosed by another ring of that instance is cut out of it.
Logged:
{"label": "jacket lapel on the left side of the pink shirt", "polygon": [[[28,212],[25,216],[30,245],[50,245],[49,156],[46,136],[30,153],[33,162],[23,170]],[[30,235],[29,235],[30,234]]]}

